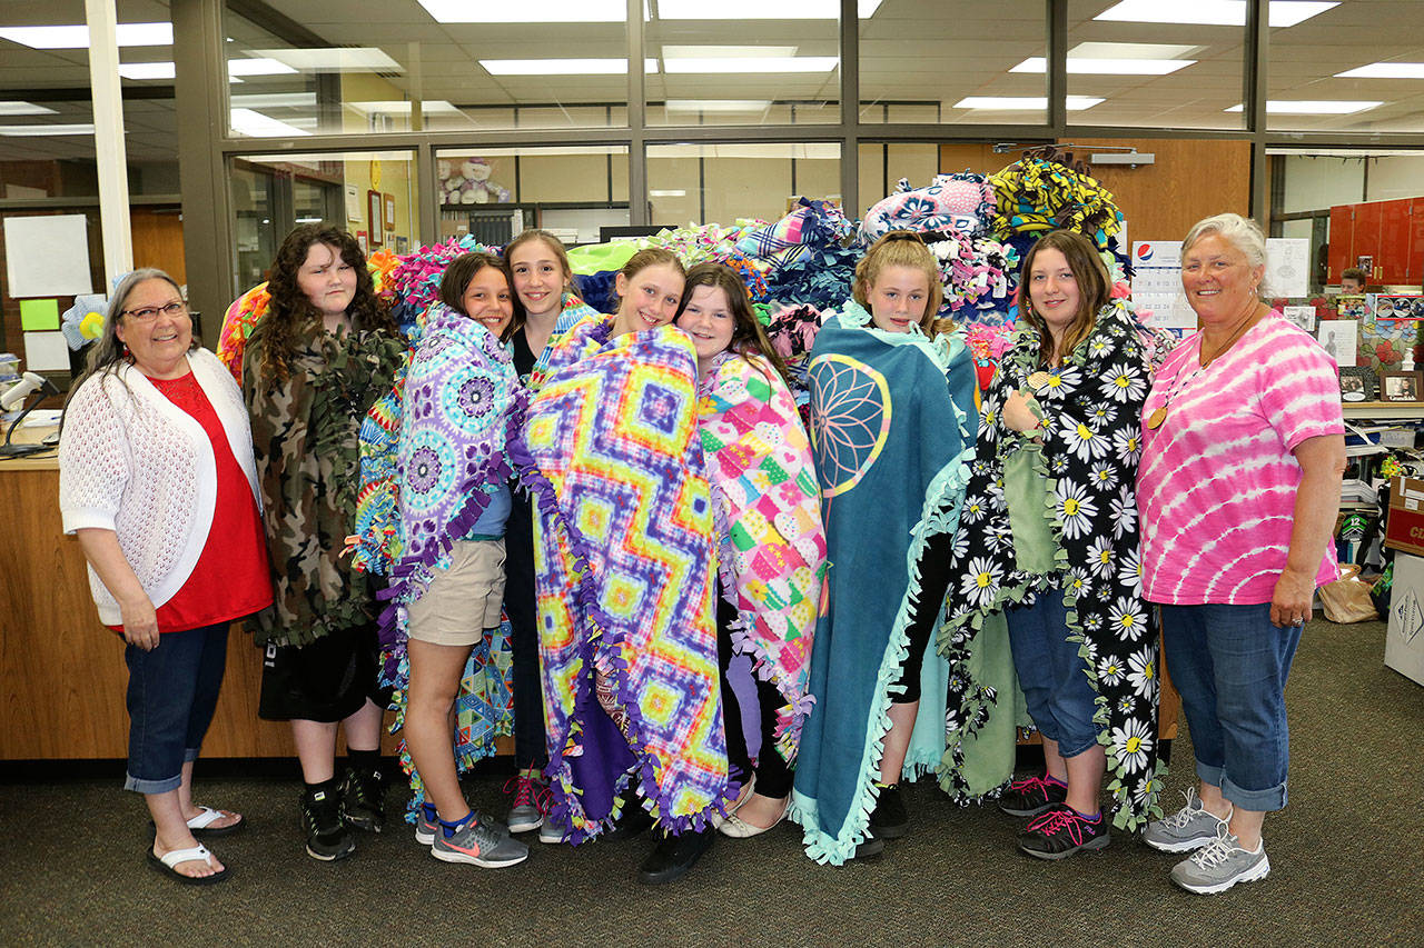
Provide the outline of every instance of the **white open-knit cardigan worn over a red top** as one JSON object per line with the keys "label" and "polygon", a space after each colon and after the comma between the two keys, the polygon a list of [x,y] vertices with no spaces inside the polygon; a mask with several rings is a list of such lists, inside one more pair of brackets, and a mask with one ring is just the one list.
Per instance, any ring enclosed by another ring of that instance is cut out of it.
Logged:
{"label": "white open-knit cardigan worn over a red top", "polygon": [[[232,373],[206,349],[188,364],[228,436],[261,505],[252,431]],[[218,468],[202,426],[132,366],[87,379],[64,411],[60,512],[64,532],[112,530],[154,608],[174,598],[198,564],[218,498]],[[105,625],[118,602],[90,568],[90,591]]]}

